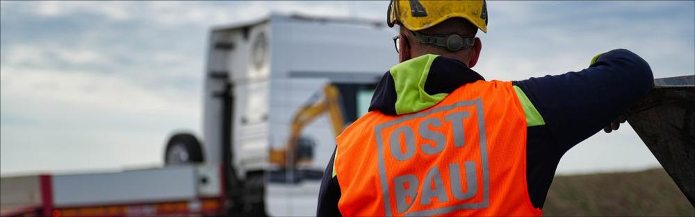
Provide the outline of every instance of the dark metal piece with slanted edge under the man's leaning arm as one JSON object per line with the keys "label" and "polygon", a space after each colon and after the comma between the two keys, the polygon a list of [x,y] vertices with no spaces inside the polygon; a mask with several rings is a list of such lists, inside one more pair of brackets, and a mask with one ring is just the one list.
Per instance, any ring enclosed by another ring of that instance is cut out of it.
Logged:
{"label": "dark metal piece with slanted edge under the man's leaning arm", "polygon": [[695,76],[654,80],[628,123],[695,206]]}

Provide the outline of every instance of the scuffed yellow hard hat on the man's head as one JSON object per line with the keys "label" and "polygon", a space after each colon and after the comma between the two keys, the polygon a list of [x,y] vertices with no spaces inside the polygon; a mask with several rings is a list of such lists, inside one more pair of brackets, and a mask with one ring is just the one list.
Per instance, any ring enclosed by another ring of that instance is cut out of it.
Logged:
{"label": "scuffed yellow hard hat on the man's head", "polygon": [[400,23],[411,31],[420,31],[446,19],[461,17],[487,33],[487,6],[484,0],[391,0],[387,16],[390,27]]}

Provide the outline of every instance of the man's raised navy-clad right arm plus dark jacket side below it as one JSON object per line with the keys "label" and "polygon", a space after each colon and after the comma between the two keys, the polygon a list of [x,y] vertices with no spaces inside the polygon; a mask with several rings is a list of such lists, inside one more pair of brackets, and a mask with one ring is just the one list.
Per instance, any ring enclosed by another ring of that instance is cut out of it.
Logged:
{"label": "man's raised navy-clad right arm plus dark jacket side below it", "polygon": [[542,124],[529,125],[526,148],[529,196],[541,208],[562,155],[644,96],[653,76],[642,58],[618,49],[598,56],[582,71],[513,84],[542,118],[536,121]]}

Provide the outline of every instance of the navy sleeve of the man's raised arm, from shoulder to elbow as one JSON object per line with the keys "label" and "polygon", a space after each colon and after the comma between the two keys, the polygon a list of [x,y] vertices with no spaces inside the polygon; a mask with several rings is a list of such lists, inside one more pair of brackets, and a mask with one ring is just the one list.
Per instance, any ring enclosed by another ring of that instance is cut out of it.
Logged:
{"label": "navy sleeve of the man's raised arm, from shoulder to elbow", "polygon": [[653,87],[649,64],[626,49],[589,68],[515,81],[538,110],[561,153],[596,134]]}

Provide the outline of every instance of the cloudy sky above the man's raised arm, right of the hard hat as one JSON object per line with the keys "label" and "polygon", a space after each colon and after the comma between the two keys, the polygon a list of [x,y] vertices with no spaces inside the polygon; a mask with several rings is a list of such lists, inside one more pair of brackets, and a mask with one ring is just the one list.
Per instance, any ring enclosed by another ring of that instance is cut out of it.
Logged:
{"label": "cloudy sky above the man's raised arm, right of the hard hat", "polygon": [[[578,11],[558,9],[587,5]],[[525,79],[578,71],[594,55],[624,48],[647,60],[655,78],[692,74],[694,12],[650,15],[673,7],[673,2],[491,1],[490,33],[480,34],[477,69],[491,75],[486,78]]]}

